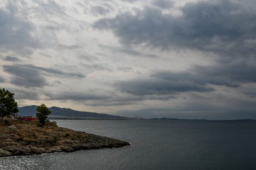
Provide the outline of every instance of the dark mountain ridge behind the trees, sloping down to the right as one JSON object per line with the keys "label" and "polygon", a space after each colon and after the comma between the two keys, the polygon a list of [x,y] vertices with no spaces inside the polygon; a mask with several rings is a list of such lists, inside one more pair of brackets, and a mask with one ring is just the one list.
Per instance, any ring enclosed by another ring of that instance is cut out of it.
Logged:
{"label": "dark mountain ridge behind the trees, sloping down to the right", "polygon": [[[24,106],[18,107],[20,116],[34,116],[36,115],[36,105],[32,106]],[[60,108],[60,107],[50,107],[48,108],[52,113],[48,116],[49,118],[62,118],[62,119],[131,119],[127,117],[114,116],[102,113],[94,113],[94,112],[83,112],[83,111],[75,111],[72,109]]]}

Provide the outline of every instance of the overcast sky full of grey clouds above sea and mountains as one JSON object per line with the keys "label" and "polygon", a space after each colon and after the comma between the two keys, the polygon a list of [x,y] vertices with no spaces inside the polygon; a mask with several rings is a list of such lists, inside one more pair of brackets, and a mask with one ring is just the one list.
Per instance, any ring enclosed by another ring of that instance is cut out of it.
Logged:
{"label": "overcast sky full of grey clouds above sea and mountains", "polygon": [[1,0],[18,106],[256,119],[255,0]]}

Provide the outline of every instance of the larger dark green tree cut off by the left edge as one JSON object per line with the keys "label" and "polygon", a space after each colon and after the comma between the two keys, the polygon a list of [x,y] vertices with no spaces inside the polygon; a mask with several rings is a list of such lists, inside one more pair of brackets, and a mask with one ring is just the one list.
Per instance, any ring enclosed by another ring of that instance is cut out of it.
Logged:
{"label": "larger dark green tree cut off by the left edge", "polygon": [[1,121],[5,116],[18,113],[18,105],[14,100],[14,93],[0,88],[0,116]]}

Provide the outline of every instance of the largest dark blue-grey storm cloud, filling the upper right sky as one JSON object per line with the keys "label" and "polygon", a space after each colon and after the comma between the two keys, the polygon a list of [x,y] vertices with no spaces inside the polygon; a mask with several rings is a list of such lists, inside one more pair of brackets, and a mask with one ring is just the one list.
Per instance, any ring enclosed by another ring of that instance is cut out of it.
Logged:
{"label": "largest dark blue-grey storm cloud, filling the upper right sky", "polygon": [[111,29],[124,45],[190,48],[228,56],[255,56],[256,3],[213,0],[187,3],[182,15],[146,7],[94,23]]}

